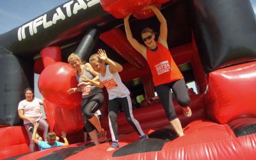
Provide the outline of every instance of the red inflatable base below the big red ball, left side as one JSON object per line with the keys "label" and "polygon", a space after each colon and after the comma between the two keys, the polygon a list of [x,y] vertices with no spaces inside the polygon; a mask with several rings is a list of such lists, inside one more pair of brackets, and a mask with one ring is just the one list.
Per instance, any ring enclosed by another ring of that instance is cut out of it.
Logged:
{"label": "red inflatable base below the big red ball, left side", "polygon": [[45,100],[44,111],[50,130],[54,131],[57,136],[61,135],[61,131],[73,134],[84,127],[80,106],[73,109],[65,109]]}

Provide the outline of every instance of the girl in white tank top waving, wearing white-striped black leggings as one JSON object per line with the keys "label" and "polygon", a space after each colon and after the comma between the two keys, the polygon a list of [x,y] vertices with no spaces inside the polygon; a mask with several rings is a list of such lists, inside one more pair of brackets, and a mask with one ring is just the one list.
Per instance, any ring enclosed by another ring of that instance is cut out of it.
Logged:
{"label": "girl in white tank top waving, wearing white-striped black leggings", "polygon": [[[123,70],[123,67],[117,62],[110,60],[107,57],[105,50],[102,49],[98,50],[98,54],[93,54],[89,61],[92,68],[96,72],[100,73],[100,81],[96,82],[94,80],[90,80],[86,76],[83,76],[86,79],[84,82],[90,82],[100,88],[105,86],[108,91],[108,120],[112,137],[112,145],[110,148],[108,148],[107,151],[114,150],[115,148],[119,147],[117,133],[118,127],[116,123],[119,105],[122,106],[126,120],[139,134],[140,139],[148,138],[148,136],[142,131],[139,122],[134,118],[132,114],[132,102],[129,96],[130,92],[128,88],[126,88],[126,86],[122,83],[118,74],[118,72]],[[109,65],[106,65],[105,63]]]}

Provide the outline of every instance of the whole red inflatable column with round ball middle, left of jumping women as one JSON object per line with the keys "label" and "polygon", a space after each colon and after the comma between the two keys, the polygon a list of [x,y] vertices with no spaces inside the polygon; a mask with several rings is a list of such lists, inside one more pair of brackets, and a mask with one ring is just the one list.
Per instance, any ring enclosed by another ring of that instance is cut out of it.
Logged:
{"label": "whole red inflatable column with round ball middle, left of jumping women", "polygon": [[38,88],[46,100],[44,109],[50,130],[57,135],[61,131],[68,135],[80,131],[83,126],[79,92],[68,94],[67,90],[77,87],[75,70],[67,63],[61,62],[61,48],[54,46],[40,52],[44,70],[38,79]]}

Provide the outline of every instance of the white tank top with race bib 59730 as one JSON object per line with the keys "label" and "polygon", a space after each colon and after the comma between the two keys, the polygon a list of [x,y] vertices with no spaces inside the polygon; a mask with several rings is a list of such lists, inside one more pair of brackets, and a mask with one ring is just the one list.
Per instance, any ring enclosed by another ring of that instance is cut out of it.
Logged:
{"label": "white tank top with race bib 59730", "polygon": [[122,98],[130,95],[130,91],[122,83],[118,72],[113,74],[109,71],[109,65],[106,66],[106,75],[103,77],[99,74],[100,81],[108,90],[108,99]]}

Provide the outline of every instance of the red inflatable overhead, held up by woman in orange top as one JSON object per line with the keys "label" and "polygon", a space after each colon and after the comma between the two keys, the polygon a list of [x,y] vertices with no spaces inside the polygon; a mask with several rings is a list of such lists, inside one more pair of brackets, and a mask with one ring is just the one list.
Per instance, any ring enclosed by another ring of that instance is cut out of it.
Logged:
{"label": "red inflatable overhead, held up by woman in orange top", "polygon": [[116,18],[124,18],[133,12],[133,16],[138,19],[146,19],[154,16],[151,9],[143,10],[145,6],[154,4],[158,9],[163,3],[170,0],[100,0],[103,9]]}

